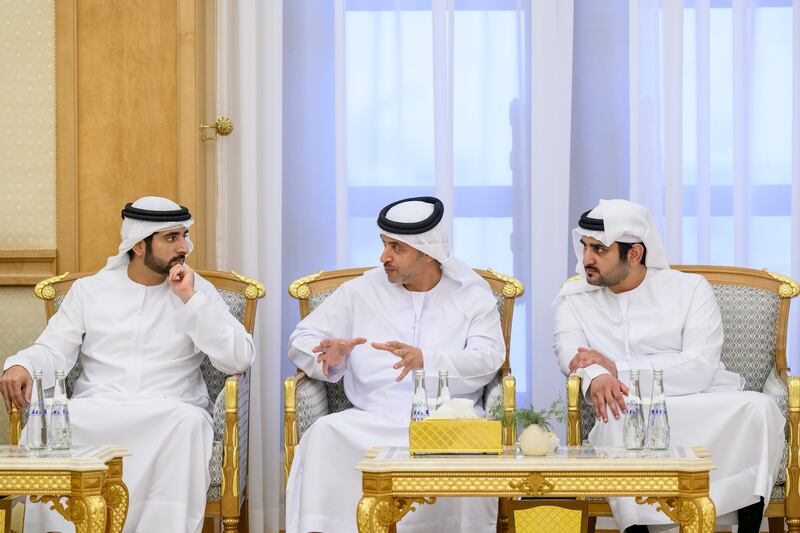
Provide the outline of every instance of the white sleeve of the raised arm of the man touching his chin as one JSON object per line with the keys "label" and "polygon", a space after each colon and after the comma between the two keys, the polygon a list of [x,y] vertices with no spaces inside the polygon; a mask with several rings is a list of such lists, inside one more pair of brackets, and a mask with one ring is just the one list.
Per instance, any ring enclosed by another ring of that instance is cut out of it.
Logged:
{"label": "white sleeve of the raised arm of the man touching his chin", "polygon": [[214,368],[226,374],[244,372],[256,360],[253,337],[230,313],[216,288],[204,281],[195,280],[198,291],[181,310],[185,332]]}

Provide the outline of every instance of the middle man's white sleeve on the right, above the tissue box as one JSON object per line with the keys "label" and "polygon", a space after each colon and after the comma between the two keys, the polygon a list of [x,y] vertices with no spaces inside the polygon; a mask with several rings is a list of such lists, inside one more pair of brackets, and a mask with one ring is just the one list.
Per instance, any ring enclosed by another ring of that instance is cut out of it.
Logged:
{"label": "middle man's white sleeve on the right, above the tissue box", "polygon": [[452,394],[469,394],[489,383],[506,357],[500,316],[494,298],[481,302],[467,332],[463,350],[426,351],[420,346],[427,378],[436,379],[447,370]]}

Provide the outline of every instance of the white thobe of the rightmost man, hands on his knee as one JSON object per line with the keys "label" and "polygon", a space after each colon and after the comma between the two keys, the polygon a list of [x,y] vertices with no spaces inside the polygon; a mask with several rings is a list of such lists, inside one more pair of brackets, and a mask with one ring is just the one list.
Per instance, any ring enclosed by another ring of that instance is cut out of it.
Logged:
{"label": "white thobe of the rightmost man, hands on his knee", "polygon": [[[565,374],[578,348],[591,348],[612,359],[619,379],[628,385],[630,370],[639,370],[647,400],[652,370],[663,369],[671,445],[704,446],[711,452],[717,468],[711,472],[710,496],[718,515],[759,497],[769,500],[785,442],[785,419],[775,402],[742,391],[744,380],[725,370],[722,341],[714,291],[696,274],[648,269],[631,291],[614,294],[598,287],[557,299],[554,342]],[[604,373],[600,365],[578,370],[584,394],[591,380]],[[608,423],[598,421],[589,442],[621,446],[622,422],[612,416]],[[654,506],[636,505],[631,498],[610,503],[621,529],[670,523]]]}

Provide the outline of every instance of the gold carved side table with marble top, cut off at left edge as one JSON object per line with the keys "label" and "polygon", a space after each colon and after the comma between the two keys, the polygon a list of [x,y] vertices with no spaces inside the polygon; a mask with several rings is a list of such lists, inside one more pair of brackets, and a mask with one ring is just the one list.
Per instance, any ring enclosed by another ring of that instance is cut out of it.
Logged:
{"label": "gold carved side table with marble top, cut off at left edge", "polygon": [[[32,451],[0,446],[0,495],[50,503],[76,533],[120,533],[128,515],[119,446],[75,446]],[[64,502],[61,500],[65,499]]]}

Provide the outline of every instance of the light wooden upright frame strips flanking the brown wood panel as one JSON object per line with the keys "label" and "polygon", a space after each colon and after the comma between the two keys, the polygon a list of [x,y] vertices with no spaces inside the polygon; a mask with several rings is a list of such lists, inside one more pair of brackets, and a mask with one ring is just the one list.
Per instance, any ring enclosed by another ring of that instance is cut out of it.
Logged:
{"label": "light wooden upright frame strips flanking the brown wood panel", "polygon": [[[80,270],[79,257],[79,180],[78,151],[78,5],[79,0],[58,0],[56,4],[56,234],[57,271]],[[213,266],[207,241],[215,227],[213,202],[206,186],[207,151],[201,147],[197,126],[205,116],[205,16],[203,0],[175,0],[178,8],[178,198],[173,198],[196,214],[197,231],[192,232],[198,250],[192,265]],[[133,200],[133,199],[132,199]],[[122,206],[120,206],[121,208]],[[197,216],[199,215],[199,216]],[[211,215],[211,216],[207,216]],[[114,221],[116,222],[116,221]],[[209,229],[206,229],[209,228]],[[198,253],[199,252],[199,253]]]}

